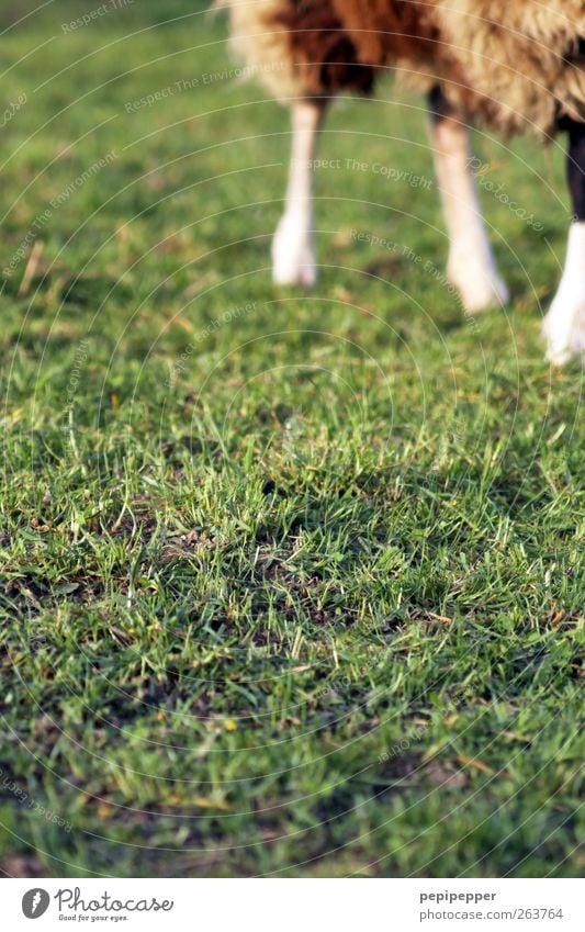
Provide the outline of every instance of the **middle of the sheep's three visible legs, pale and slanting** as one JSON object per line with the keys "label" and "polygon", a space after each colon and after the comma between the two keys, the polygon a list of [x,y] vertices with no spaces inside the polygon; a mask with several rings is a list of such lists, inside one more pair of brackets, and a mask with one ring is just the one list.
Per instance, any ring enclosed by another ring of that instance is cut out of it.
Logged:
{"label": "middle of the sheep's three visible legs, pale and slanting", "polygon": [[470,134],[439,88],[429,96],[435,168],[449,233],[447,274],[470,313],[502,305],[509,294],[500,279],[471,169]]}

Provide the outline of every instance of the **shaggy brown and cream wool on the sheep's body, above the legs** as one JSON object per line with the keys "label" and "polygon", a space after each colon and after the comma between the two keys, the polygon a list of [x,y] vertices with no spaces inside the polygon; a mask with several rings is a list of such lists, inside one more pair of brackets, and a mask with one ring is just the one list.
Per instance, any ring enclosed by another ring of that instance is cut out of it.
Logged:
{"label": "shaggy brown and cream wool on the sheep's body, above the legs", "polygon": [[[234,42],[281,100],[369,92],[379,68],[506,133],[585,120],[584,0],[227,2]],[[581,47],[580,47],[581,42]]]}

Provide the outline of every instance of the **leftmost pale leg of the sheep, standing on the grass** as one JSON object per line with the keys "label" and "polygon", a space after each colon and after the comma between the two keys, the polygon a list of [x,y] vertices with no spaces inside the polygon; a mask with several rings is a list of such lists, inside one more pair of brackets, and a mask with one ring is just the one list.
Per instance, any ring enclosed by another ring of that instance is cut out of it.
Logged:
{"label": "leftmost pale leg of the sheep, standing on the grass", "polygon": [[284,214],[272,242],[272,273],[277,284],[311,287],[317,279],[313,218],[313,176],[325,103],[299,100],[292,104],[292,157]]}

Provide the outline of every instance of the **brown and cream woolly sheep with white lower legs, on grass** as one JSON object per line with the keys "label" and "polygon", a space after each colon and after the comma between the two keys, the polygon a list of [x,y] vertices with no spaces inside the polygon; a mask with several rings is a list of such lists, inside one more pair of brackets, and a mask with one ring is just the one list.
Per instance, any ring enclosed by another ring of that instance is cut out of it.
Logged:
{"label": "brown and cream woolly sheep with white lower legs, on grass", "polygon": [[[566,260],[543,322],[548,357],[585,351],[584,0],[218,0],[234,44],[291,108],[285,210],[272,244],[278,284],[317,277],[313,170],[327,108],[344,91],[371,92],[376,72],[416,76],[446,225],[447,274],[469,313],[509,299],[481,214],[472,121],[507,135],[569,136],[573,201]],[[275,67],[275,63],[279,67]]]}

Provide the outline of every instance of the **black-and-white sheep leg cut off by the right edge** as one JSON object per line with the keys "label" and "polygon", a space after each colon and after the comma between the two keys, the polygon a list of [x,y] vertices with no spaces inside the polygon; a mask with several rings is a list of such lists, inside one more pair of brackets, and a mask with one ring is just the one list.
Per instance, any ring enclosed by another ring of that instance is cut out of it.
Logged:
{"label": "black-and-white sheep leg cut off by the right edge", "polygon": [[567,176],[573,217],[563,276],[542,330],[551,362],[585,352],[585,124],[567,120]]}

